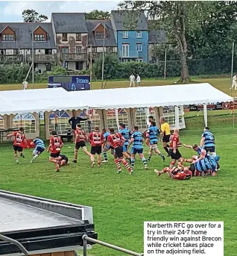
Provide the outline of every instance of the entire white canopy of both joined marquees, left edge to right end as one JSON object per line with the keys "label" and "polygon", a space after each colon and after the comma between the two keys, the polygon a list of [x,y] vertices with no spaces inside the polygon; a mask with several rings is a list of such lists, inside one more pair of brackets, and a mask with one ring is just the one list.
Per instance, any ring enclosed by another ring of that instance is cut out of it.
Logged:
{"label": "entire white canopy of both joined marquees, left edge to right end", "polygon": [[63,88],[0,92],[0,114],[85,108],[117,109],[233,102],[210,84],[115,88],[66,92]]}

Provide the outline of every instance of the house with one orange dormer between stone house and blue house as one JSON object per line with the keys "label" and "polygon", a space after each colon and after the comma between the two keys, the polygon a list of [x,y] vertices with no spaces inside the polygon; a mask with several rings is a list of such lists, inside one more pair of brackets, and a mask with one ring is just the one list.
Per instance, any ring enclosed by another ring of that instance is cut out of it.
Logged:
{"label": "house with one orange dormer between stone house and blue house", "polygon": [[92,61],[105,54],[117,55],[117,43],[110,20],[86,20],[89,31],[88,53],[92,46]]}

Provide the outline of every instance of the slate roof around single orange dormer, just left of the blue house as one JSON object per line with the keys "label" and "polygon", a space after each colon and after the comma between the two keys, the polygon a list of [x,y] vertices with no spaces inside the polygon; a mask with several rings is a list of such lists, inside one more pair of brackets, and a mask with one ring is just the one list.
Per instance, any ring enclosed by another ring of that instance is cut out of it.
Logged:
{"label": "slate roof around single orange dormer, just left of the blue house", "polygon": [[[92,33],[93,29],[95,29],[95,27],[97,27],[100,23],[103,26],[106,25],[107,28],[107,38],[105,40],[95,39]],[[86,20],[86,24],[89,31],[89,44],[92,43],[92,46],[102,47],[104,42],[104,46],[117,46],[116,38],[114,36],[113,27],[110,20]]]}

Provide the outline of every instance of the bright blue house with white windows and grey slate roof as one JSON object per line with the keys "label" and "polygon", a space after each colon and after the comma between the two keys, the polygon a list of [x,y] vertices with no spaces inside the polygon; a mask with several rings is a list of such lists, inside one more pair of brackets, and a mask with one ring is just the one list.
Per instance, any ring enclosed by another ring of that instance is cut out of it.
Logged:
{"label": "bright blue house with white windows and grey slate roof", "polygon": [[144,12],[137,13],[135,29],[128,29],[126,21],[131,11],[112,10],[111,23],[121,61],[148,62],[148,22]]}

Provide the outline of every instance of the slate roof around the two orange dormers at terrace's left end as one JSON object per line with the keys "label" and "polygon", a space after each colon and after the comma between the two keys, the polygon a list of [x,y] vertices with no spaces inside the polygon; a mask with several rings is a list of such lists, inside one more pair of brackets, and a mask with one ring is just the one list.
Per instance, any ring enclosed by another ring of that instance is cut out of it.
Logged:
{"label": "slate roof around the two orange dormers at terrace's left end", "polygon": [[32,48],[32,31],[37,27],[48,33],[47,42],[34,42],[34,49],[56,49],[54,35],[51,23],[48,22],[17,22],[17,23],[0,23],[0,31],[9,26],[16,33],[15,42],[0,41],[0,49],[31,49]]}

